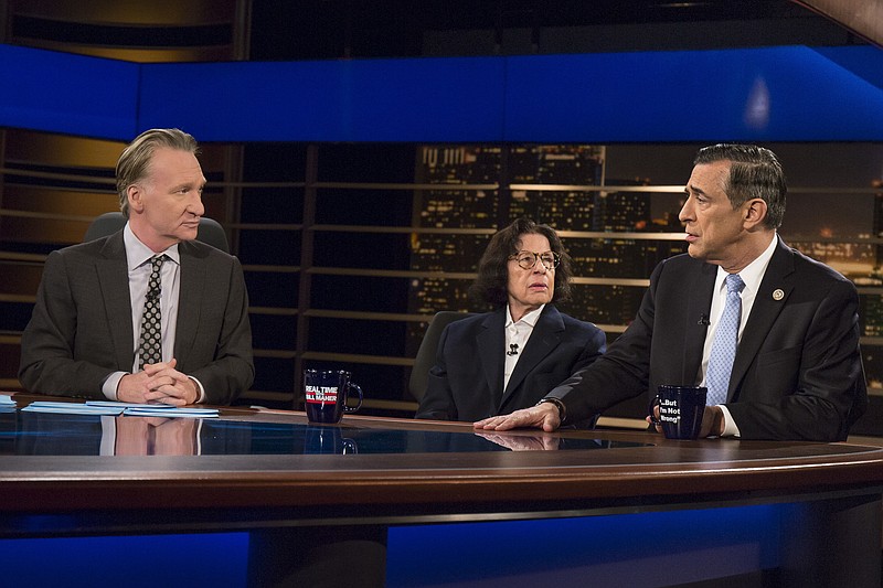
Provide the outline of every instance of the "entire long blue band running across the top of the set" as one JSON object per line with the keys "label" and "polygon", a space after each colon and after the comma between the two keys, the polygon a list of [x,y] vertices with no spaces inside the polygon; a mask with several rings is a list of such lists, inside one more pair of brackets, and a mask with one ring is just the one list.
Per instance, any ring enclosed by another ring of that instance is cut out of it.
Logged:
{"label": "entire long blue band running across the top of the set", "polygon": [[0,126],[201,141],[883,140],[883,52],[132,64],[0,45]]}

